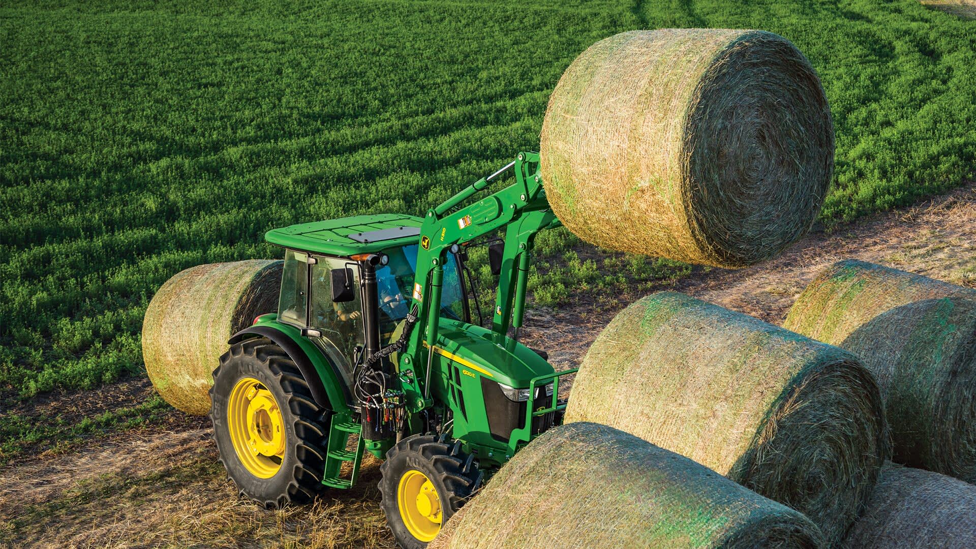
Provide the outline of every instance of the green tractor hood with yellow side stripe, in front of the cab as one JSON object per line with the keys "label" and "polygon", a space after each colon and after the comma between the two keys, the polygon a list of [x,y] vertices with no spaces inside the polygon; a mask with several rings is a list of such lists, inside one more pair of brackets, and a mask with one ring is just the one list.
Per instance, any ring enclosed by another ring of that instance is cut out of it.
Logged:
{"label": "green tractor hood with yellow side stripe, in front of the cab", "polygon": [[434,352],[519,389],[527,388],[532,378],[555,371],[549,361],[521,343],[507,337],[504,345],[499,345],[493,336],[491,330],[481,326],[441,317]]}

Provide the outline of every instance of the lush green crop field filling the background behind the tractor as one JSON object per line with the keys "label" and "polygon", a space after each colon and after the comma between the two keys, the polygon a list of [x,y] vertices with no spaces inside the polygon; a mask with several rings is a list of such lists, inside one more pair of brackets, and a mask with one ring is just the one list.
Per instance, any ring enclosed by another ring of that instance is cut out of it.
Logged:
{"label": "lush green crop field filling the background behind the tractor", "polygon": [[[277,257],[274,227],[421,213],[537,148],[562,70],[623,30],[793,40],[834,110],[827,222],[976,160],[976,27],[915,0],[55,0],[0,24],[0,392],[24,397],[139,371],[142,313],[182,269]],[[577,243],[540,237],[539,303],[662,268],[563,262]]]}

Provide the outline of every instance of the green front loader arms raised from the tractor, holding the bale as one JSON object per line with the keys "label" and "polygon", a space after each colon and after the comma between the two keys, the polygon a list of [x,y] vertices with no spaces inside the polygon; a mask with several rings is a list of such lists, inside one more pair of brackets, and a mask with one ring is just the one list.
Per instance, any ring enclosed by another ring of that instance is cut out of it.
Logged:
{"label": "green front loader arms raised from the tractor, holding the bale", "polygon": [[[509,169],[514,170],[513,184],[473,204],[462,205]],[[543,189],[538,152],[520,152],[501,170],[427,211],[421,227],[412,298],[420,312],[420,323],[411,333],[407,349],[400,358],[401,381],[412,387],[411,393],[415,392],[408,400],[409,408],[417,411],[432,404],[429,375],[433,346],[426,343],[437,341],[445,254],[457,251],[462,242],[505,229],[502,271],[492,317],[492,337],[504,346],[508,328],[514,327],[517,337],[517,330],[522,325],[529,255],[535,235],[559,225]]]}

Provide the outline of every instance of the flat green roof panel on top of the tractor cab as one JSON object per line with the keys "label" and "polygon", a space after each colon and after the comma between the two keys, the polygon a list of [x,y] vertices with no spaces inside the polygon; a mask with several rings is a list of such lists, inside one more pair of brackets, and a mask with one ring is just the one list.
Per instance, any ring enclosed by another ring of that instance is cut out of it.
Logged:
{"label": "flat green roof panel on top of the tractor cab", "polygon": [[296,250],[350,256],[416,244],[423,223],[423,218],[406,214],[354,216],[273,229],[264,239]]}

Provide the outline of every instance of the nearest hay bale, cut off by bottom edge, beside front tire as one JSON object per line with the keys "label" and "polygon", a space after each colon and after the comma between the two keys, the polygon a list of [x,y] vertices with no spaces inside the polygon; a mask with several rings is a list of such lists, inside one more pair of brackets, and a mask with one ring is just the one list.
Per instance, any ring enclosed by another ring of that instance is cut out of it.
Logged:
{"label": "nearest hay bale, cut off by bottom edge, beside front tire", "polygon": [[803,515],[605,425],[521,449],[428,549],[823,546]]}

